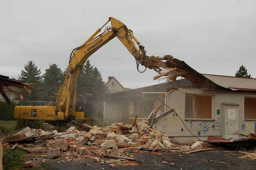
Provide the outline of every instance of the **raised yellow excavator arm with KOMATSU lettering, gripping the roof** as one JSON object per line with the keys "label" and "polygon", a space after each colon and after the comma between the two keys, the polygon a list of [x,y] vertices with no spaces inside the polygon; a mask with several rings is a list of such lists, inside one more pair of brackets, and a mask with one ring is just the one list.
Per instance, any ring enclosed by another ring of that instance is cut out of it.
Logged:
{"label": "raised yellow excavator arm with KOMATSU lettering, gripping the roof", "polygon": [[[108,22],[111,22],[111,27],[106,27],[105,30],[100,33],[101,29],[105,27]],[[100,34],[99,34],[100,33]],[[99,34],[99,35],[97,35]],[[140,44],[137,38],[133,35],[132,30],[128,29],[121,21],[110,17],[109,20],[99,28],[86,42],[81,46],[75,48],[69,58],[69,66],[66,73],[66,77],[57,95],[57,107],[59,111],[65,113],[65,117],[75,111],[76,104],[76,82],[80,75],[80,72],[84,66],[85,61],[103,45],[108,43],[111,39],[117,37],[121,43],[130,51],[137,63],[137,69],[139,71],[139,65],[145,66],[149,69],[154,69],[157,73],[161,71],[159,67],[167,67],[164,61],[169,58],[169,55],[163,57],[147,56],[144,46]],[[137,45],[135,45],[134,41]],[[138,46],[138,47],[137,47]],[[145,71],[144,70],[144,71]],[[144,72],[142,71],[142,72]],[[141,71],[139,71],[141,72]],[[70,97],[74,92],[73,98],[73,110],[70,109]]]}

